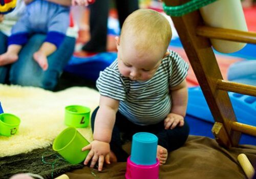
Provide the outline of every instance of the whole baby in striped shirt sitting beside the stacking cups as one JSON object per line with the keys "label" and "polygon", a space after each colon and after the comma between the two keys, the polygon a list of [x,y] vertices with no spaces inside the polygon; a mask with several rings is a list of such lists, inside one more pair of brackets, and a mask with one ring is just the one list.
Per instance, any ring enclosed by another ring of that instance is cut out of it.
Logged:
{"label": "whole baby in striped shirt sitting beside the stacking cups", "polygon": [[84,165],[92,159],[90,167],[98,162],[102,170],[104,162],[125,162],[129,154],[122,149],[120,133],[129,139],[136,132],[154,133],[160,164],[185,143],[188,64],[167,51],[171,36],[168,20],[156,11],[140,9],[126,18],[120,39],[116,37],[117,59],[97,80],[94,141],[82,148],[91,149]]}

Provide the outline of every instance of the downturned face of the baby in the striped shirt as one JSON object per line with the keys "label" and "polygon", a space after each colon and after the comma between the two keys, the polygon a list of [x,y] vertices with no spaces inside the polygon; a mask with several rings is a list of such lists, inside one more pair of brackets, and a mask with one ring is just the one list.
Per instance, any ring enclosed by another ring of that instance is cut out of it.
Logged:
{"label": "downturned face of the baby in the striped shirt", "polygon": [[122,76],[133,81],[151,79],[161,64],[162,52],[138,52],[135,48],[119,47],[118,69]]}

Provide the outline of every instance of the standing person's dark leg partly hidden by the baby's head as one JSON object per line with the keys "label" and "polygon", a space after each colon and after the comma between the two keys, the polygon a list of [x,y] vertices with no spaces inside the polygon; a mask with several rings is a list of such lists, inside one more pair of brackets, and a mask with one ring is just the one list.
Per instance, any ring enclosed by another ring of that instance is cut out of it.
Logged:
{"label": "standing person's dark leg partly hidden by the baby's head", "polygon": [[127,16],[129,16],[132,12],[139,9],[138,0],[116,0],[116,8],[118,11],[118,19],[120,28],[123,26],[123,22]]}

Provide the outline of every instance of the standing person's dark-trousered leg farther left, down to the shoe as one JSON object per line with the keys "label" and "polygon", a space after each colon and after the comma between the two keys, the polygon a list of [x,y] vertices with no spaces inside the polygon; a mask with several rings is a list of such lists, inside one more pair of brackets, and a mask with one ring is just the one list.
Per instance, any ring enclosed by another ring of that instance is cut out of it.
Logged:
{"label": "standing person's dark-trousered leg farther left, down to the shoe", "polygon": [[108,32],[110,0],[97,0],[90,5],[91,39],[83,46],[83,51],[105,52]]}

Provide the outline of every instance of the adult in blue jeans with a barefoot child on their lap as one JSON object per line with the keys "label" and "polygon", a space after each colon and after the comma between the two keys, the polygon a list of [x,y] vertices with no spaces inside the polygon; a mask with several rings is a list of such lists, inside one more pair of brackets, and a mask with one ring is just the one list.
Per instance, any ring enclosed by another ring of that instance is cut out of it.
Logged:
{"label": "adult in blue jeans with a barefoot child on their lap", "polygon": [[[37,0],[36,0],[37,1]],[[71,0],[48,0],[48,2],[66,6],[71,6]],[[35,2],[32,2],[32,4]],[[25,4],[22,0],[17,0],[14,11],[4,15],[0,23],[0,54],[7,51],[8,36],[11,35],[11,28],[16,24],[18,18],[23,16]],[[63,19],[69,21],[68,19]],[[35,53],[38,52],[42,44],[45,43],[47,34],[35,32],[28,36],[27,42],[20,49],[17,59],[6,64],[0,60],[0,83],[17,84],[23,86],[37,86],[53,90],[58,79],[70,60],[75,47],[77,29],[70,25],[58,49],[47,57],[48,68],[42,70],[37,61],[34,60]]]}

